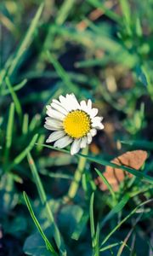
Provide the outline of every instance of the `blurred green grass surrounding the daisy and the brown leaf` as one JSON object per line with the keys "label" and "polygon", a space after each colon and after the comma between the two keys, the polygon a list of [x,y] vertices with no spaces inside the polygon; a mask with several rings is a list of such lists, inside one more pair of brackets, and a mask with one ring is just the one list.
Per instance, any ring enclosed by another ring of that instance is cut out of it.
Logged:
{"label": "blurred green grass surrounding the daisy and the brown leaf", "polygon": [[[153,0],[1,1],[4,255],[151,254],[152,7]],[[75,156],[45,143],[45,106],[66,93],[91,98],[104,117],[104,131]],[[139,171],[111,162],[136,149],[148,154]],[[133,177],[116,191],[106,166]]]}

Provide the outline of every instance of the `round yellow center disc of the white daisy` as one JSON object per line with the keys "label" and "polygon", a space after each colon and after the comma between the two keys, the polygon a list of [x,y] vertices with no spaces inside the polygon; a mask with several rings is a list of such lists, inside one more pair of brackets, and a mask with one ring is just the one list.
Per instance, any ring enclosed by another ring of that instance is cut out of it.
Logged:
{"label": "round yellow center disc of the white daisy", "polygon": [[91,120],[88,113],[82,110],[74,110],[68,113],[63,121],[65,133],[70,137],[81,138],[91,129]]}

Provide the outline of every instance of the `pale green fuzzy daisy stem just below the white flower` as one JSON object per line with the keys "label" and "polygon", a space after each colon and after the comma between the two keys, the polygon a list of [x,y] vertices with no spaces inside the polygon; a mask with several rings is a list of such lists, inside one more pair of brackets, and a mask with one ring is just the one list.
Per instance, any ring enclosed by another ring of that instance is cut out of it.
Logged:
{"label": "pale green fuzzy daisy stem just below the white flower", "polygon": [[[88,147],[87,148],[83,148],[82,149],[82,154],[88,154]],[[78,166],[77,166],[77,170],[75,172],[74,175],[74,179],[71,182],[71,186],[70,189],[68,191],[68,199],[73,199],[75,197],[75,195],[77,194],[77,189],[79,187],[79,183],[82,179],[82,173],[84,171],[84,168],[86,166],[86,158],[83,158],[82,156],[79,157],[79,162],[78,162]]]}

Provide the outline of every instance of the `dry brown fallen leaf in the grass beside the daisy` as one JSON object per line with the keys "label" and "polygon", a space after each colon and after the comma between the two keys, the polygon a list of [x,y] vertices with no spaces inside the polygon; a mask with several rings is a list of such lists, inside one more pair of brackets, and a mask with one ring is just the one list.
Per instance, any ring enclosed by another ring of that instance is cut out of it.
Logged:
{"label": "dry brown fallen leaf in the grass beside the daisy", "polygon": [[[147,158],[147,152],[144,150],[133,150],[128,151],[111,161],[119,166],[127,166],[131,167],[135,170],[139,170],[141,166],[143,166],[144,161]],[[113,168],[111,166],[106,166],[105,172],[103,173],[105,178],[111,183],[111,186],[114,191],[118,190],[119,184],[124,180],[125,176],[133,177],[133,174],[129,172],[124,172],[121,169]],[[99,189],[105,191],[107,190],[107,186],[103,183],[100,177],[97,177],[95,183],[99,186]]]}

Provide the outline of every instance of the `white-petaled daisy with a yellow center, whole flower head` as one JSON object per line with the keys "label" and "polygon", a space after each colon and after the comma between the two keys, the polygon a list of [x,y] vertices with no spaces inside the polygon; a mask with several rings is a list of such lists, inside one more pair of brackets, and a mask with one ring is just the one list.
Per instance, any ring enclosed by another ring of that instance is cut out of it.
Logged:
{"label": "white-petaled daisy with a yellow center, whole flower head", "polygon": [[71,154],[77,154],[80,148],[86,148],[92,142],[97,130],[102,130],[102,117],[96,116],[97,108],[92,108],[91,100],[77,102],[74,94],[59,96],[46,106],[47,115],[44,127],[53,131],[46,143],[54,147],[65,148],[71,144]]}

